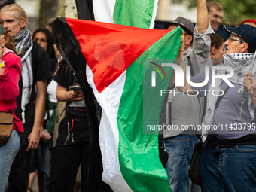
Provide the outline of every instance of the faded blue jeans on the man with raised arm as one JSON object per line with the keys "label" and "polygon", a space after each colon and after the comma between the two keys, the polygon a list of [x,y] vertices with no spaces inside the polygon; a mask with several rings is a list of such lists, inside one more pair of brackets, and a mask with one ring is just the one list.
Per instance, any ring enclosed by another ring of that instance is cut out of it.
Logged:
{"label": "faded blue jeans on the man with raised arm", "polygon": [[201,191],[200,186],[191,183],[188,178],[188,166],[197,144],[196,135],[181,134],[165,139],[169,154],[166,171],[172,192]]}

